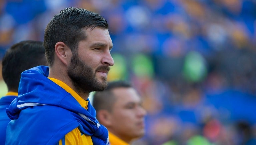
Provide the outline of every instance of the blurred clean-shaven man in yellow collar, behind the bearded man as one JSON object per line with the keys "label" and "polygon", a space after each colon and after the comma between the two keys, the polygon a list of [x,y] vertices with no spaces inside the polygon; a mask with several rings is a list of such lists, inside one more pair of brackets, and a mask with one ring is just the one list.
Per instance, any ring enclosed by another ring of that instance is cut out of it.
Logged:
{"label": "blurred clean-shaven man in yellow collar, behind the bearded man", "polygon": [[107,127],[111,145],[128,145],[145,133],[145,109],[136,90],[127,82],[109,82],[93,97],[97,119]]}

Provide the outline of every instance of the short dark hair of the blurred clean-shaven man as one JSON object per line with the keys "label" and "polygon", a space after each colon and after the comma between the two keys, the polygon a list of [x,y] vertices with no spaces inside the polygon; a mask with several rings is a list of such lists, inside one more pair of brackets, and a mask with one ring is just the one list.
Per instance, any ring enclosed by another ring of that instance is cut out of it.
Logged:
{"label": "short dark hair of the blurred clean-shaven man", "polygon": [[131,88],[132,85],[129,82],[118,80],[108,82],[108,86],[103,91],[97,91],[93,95],[93,104],[96,112],[104,109],[111,112],[112,105],[115,102],[116,98],[112,92],[116,88]]}

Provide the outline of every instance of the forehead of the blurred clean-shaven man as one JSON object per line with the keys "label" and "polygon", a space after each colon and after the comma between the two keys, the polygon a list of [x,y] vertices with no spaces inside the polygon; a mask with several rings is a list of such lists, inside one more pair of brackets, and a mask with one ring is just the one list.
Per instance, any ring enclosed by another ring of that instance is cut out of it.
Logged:
{"label": "forehead of the blurred clean-shaven man", "polygon": [[141,97],[134,88],[115,88],[112,91],[116,96],[115,104],[126,104],[129,102],[139,103],[141,102]]}

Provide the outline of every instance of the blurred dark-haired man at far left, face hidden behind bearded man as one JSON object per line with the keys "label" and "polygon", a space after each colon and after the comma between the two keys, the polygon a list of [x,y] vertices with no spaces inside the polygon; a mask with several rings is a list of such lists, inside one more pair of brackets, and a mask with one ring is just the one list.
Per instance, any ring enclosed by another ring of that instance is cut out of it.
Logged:
{"label": "blurred dark-haired man at far left, face hidden behind bearded man", "polygon": [[6,114],[13,99],[18,97],[21,73],[38,65],[46,65],[45,49],[40,41],[21,41],[8,49],[2,61],[2,75],[8,93],[0,99],[0,144],[5,144],[7,124],[11,119]]}

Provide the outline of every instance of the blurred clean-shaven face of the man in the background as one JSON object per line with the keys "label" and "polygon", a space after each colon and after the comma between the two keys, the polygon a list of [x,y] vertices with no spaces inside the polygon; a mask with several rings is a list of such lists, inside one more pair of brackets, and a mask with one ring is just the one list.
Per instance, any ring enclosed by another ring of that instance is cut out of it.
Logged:
{"label": "blurred clean-shaven face of the man in the background", "polygon": [[145,133],[145,109],[133,88],[113,89],[116,101],[112,106],[111,132],[123,140],[142,137]]}

